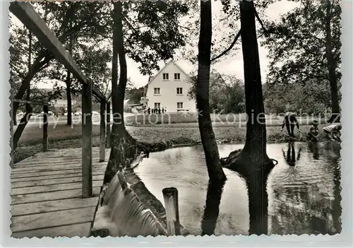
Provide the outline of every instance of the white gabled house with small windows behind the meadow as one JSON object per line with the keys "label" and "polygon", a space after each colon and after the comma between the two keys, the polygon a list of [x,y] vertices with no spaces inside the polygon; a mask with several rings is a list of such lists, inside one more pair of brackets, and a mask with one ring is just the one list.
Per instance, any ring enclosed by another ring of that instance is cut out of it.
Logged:
{"label": "white gabled house with small windows behind the meadow", "polygon": [[196,112],[196,102],[188,97],[190,76],[173,60],[169,61],[145,85],[146,107],[167,112]]}

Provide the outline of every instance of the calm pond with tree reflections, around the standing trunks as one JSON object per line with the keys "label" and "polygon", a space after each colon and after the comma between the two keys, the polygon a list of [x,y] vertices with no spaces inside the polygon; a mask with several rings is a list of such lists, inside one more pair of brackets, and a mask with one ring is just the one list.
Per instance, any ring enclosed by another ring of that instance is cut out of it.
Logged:
{"label": "calm pond with tree reflections, around the standing trunks", "polygon": [[[221,157],[244,145],[219,145]],[[267,146],[278,165],[268,177],[269,234],[335,234],[340,232],[340,145],[277,143]],[[249,201],[244,179],[224,169],[215,235],[249,234]],[[208,172],[202,146],[150,153],[134,169],[145,186],[164,205],[162,189],[179,191],[181,225],[201,235],[208,191]],[[211,206],[212,208],[213,206]]]}

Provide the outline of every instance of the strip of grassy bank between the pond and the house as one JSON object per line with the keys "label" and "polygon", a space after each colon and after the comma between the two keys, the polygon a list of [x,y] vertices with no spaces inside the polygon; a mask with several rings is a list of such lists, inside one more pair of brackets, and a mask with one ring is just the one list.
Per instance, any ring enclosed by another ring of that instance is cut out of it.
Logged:
{"label": "strip of grassy bank between the pond and the house", "polygon": [[[323,124],[318,128],[321,130],[320,141],[323,141]],[[92,145],[99,146],[99,126],[92,126]],[[306,141],[310,125],[302,125],[302,136],[300,141]],[[200,133],[195,126],[127,126],[128,132],[138,141],[151,144],[172,143],[174,146],[201,143]],[[297,129],[296,129],[297,130]],[[219,143],[244,143],[246,126],[215,126],[215,137]],[[286,142],[285,134],[280,131],[280,126],[267,126],[268,143]],[[55,129],[49,126],[48,131],[49,149],[80,148],[81,126],[57,125]],[[299,137],[297,131],[296,135]],[[42,129],[38,126],[27,126],[20,138],[15,153],[15,163],[42,151]]]}

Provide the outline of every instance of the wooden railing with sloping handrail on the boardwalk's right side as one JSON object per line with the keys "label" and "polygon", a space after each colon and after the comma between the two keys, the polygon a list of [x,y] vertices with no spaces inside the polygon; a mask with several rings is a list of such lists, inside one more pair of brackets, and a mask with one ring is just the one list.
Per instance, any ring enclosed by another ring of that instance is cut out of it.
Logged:
{"label": "wooden railing with sloping handrail on the boardwalk's right side", "polygon": [[[97,88],[93,87],[92,81],[85,77],[83,72],[78,68],[76,61],[71,57],[64,48],[61,41],[54,35],[45,23],[40,18],[40,15],[35,11],[31,4],[26,2],[13,1],[10,4],[10,11],[30,30],[38,40],[48,49],[49,52],[54,54],[54,57],[64,64],[73,76],[83,85],[82,90],[82,196],[88,198],[92,196],[92,93],[100,99],[101,104],[101,117],[102,110],[106,107],[109,110],[109,102],[100,93]],[[21,100],[23,101],[23,100]],[[29,103],[29,102],[28,102]],[[104,107],[102,106],[104,105]],[[105,106],[107,105],[107,106]],[[47,109],[46,109],[47,110]],[[107,115],[108,119],[109,115]],[[104,118],[101,118],[100,123],[100,160],[104,160],[103,147],[110,147],[109,134],[110,124],[107,122],[107,143],[104,144],[105,125]],[[44,129],[43,129],[44,130]],[[47,130],[47,128],[46,128]],[[47,140],[47,136],[46,136]]]}

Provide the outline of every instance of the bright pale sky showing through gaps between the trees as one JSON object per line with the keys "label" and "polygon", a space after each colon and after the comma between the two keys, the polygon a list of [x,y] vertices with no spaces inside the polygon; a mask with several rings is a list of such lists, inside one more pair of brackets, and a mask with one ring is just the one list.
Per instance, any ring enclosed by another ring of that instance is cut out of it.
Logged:
{"label": "bright pale sky showing through gaps between the trees", "polygon": [[[295,6],[298,6],[299,3],[294,1],[276,1],[274,4],[270,4],[268,8],[265,10],[266,16],[270,20],[278,20],[283,13],[287,13]],[[220,1],[213,1],[213,15],[217,16],[217,13],[222,11],[222,6]],[[220,31],[222,32],[222,31]],[[215,34],[216,32],[214,32]],[[215,34],[217,35],[217,33]],[[260,42],[258,42],[260,43]],[[265,77],[268,71],[269,60],[267,58],[268,50],[265,47],[259,47],[259,57],[260,57],[260,65],[261,65],[261,78],[263,78],[263,82],[265,82]],[[197,47],[195,47],[197,49]],[[178,53],[178,51],[177,51]],[[212,55],[211,55],[212,56]],[[137,88],[144,86],[148,83],[148,76],[143,76],[138,70],[138,64],[136,64],[132,59],[126,58],[127,68],[128,68],[128,78],[131,79],[133,85]],[[191,71],[195,71],[197,65],[191,64],[186,59],[177,60],[177,64],[181,66],[181,68],[186,71],[186,73],[190,73]],[[164,66],[164,61],[161,61],[159,64],[160,68]],[[213,69],[221,74],[233,75],[237,78],[244,79],[244,71],[243,71],[243,58],[241,49],[237,51],[236,54],[232,57],[227,57],[227,59],[220,59],[217,64],[213,65]],[[157,73],[157,71],[154,71]],[[38,88],[52,88],[52,83],[48,83],[47,81],[38,83]]]}

